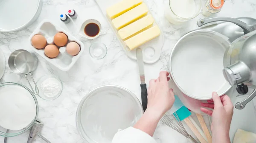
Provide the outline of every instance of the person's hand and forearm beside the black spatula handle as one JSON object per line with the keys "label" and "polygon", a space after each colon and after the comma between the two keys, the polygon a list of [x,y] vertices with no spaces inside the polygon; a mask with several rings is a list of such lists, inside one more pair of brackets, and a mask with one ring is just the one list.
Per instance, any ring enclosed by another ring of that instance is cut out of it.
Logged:
{"label": "person's hand and forearm beside the black spatula handle", "polygon": [[134,125],[134,128],[153,136],[157,127],[157,123],[163,115],[171,109],[174,104],[174,93],[169,89],[168,77],[169,73],[166,71],[160,72],[158,79],[151,79],[148,87],[148,106],[140,118]]}

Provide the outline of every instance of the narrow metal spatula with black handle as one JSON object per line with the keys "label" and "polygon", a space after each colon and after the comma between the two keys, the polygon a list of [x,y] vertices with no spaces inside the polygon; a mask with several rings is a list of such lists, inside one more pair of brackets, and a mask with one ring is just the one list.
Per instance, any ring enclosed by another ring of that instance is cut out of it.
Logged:
{"label": "narrow metal spatula with black handle", "polygon": [[148,104],[148,90],[147,90],[147,84],[145,84],[143,54],[140,48],[136,50],[136,57],[137,57],[137,63],[139,66],[139,73],[140,73],[141,102],[142,102],[143,110],[145,112]]}

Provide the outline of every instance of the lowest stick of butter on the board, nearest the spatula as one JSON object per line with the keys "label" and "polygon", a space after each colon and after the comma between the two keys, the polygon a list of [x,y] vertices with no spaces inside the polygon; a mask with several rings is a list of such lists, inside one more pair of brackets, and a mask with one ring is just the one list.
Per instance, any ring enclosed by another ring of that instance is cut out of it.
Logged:
{"label": "lowest stick of butter on the board, nearest the spatula", "polygon": [[130,50],[133,50],[140,45],[143,45],[145,42],[156,38],[160,33],[161,31],[158,26],[154,26],[126,40],[125,44],[130,48]]}

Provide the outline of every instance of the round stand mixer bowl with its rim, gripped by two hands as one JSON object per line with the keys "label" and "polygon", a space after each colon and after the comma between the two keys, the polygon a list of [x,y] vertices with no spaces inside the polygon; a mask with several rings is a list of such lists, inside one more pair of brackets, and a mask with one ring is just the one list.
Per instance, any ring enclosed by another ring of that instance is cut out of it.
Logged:
{"label": "round stand mixer bowl with its rim, gripped by two hands", "polygon": [[231,89],[225,80],[224,53],[228,38],[215,31],[196,30],[175,44],[170,56],[170,74],[182,93],[198,100],[212,98],[212,92],[224,95]]}

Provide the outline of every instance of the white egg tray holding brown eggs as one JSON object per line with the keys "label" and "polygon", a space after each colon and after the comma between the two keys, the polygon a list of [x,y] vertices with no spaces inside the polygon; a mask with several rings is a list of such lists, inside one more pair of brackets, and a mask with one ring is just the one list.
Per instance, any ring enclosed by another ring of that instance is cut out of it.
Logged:
{"label": "white egg tray holding brown eggs", "polygon": [[[60,51],[59,55],[56,58],[49,58],[44,54],[44,49],[36,49],[31,43],[31,39],[34,35],[41,34],[47,39],[47,45],[52,44],[54,35],[59,32],[62,32],[67,35],[68,37],[67,44],[70,42],[76,42],[79,44],[80,52],[76,56],[71,56],[67,53],[65,49],[63,50],[63,48],[66,48],[67,46],[66,44],[65,46],[62,47],[62,51]],[[58,27],[57,25],[55,25],[54,23],[48,20],[44,20],[38,25],[35,31],[30,35],[29,42],[36,53],[38,53],[40,56],[46,59],[49,63],[53,64],[55,67],[58,67],[60,70],[63,70],[63,71],[70,70],[70,68],[76,63],[76,61],[79,59],[81,54],[84,52],[84,44],[81,41],[79,41],[74,36],[67,33],[62,28]]]}

